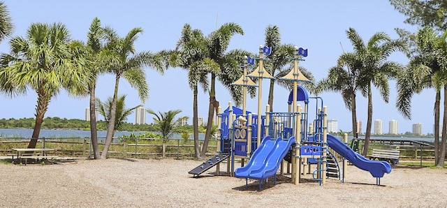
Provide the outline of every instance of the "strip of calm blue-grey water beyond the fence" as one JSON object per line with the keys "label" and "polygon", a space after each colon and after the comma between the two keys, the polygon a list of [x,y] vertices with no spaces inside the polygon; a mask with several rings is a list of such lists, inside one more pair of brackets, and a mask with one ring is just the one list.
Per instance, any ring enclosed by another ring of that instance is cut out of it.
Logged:
{"label": "strip of calm blue-grey water beyond the fence", "polygon": [[[0,128],[0,138],[31,138],[33,133],[32,129],[17,129],[17,128]],[[105,138],[107,131],[98,131],[98,138]],[[136,135],[140,133],[146,133],[141,131],[117,131],[115,132],[115,137],[121,135],[130,135],[131,133],[135,133]],[[335,135],[337,136],[337,135]],[[52,130],[52,129],[42,129],[40,138],[90,138],[90,131],[82,131],[82,130]],[[203,140],[205,135],[203,133],[199,134],[199,139]],[[341,138],[340,136],[337,136]],[[360,137],[364,138],[364,137]],[[180,135],[173,135],[173,139],[181,139]],[[192,139],[192,135],[189,137]],[[384,140],[418,140],[425,142],[433,142],[433,138],[388,138],[388,137],[372,137],[372,139],[384,139]],[[348,140],[352,140],[352,136],[348,138]]]}

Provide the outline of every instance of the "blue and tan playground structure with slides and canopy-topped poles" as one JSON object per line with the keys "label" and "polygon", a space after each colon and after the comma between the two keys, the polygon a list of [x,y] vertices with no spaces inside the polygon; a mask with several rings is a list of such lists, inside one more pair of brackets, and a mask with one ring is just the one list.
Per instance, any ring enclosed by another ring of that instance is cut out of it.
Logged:
{"label": "blue and tan playground structure with slides and canopy-topped poles", "polygon": [[[228,160],[227,172],[230,176],[245,178],[246,186],[248,179],[258,179],[261,189],[263,180],[274,177],[274,183],[276,182],[279,168],[281,168],[280,174],[284,174],[285,161],[287,161],[287,167],[291,164],[291,179],[297,185],[300,183],[301,174],[305,173],[306,165],[309,165],[308,172],[310,172],[310,164],[316,164],[312,177],[321,185],[325,184],[328,177],[344,181],[346,162],[350,161],[356,167],[370,172],[376,178],[376,184],[379,185],[381,177],[385,173],[390,173],[390,164],[386,161],[371,161],[357,154],[346,144],[347,135],[342,142],[328,134],[327,107],[323,106],[323,99],[309,97],[305,87],[298,86],[298,82],[309,82],[298,69],[298,61],[304,61],[302,57],[307,57],[307,50],[295,47],[295,56],[289,58],[294,62],[293,70],[280,78],[293,82],[293,89],[288,96],[288,112],[270,112],[270,106],[267,105],[265,116],[261,115],[262,80],[273,78],[263,68],[263,61],[268,60],[263,57],[265,54],[270,54],[270,50],[268,47],[259,48],[259,58],[255,58],[258,59],[258,67],[248,75],[247,68],[249,64],[254,64],[254,59],[249,57],[244,59],[244,65],[240,66],[244,73],[233,83],[243,88],[242,110],[231,103],[223,112],[219,107],[218,153],[189,173],[198,176],[217,166],[217,174],[219,174],[219,163]],[[250,77],[256,77],[258,84],[251,81]],[[257,114],[246,110],[246,94],[249,86],[258,87]],[[309,123],[310,103],[315,105],[315,117]],[[340,171],[339,161],[332,154],[334,151],[343,158],[342,171]],[[241,160],[241,168],[235,168],[236,159]],[[246,160],[248,163],[244,165]]]}

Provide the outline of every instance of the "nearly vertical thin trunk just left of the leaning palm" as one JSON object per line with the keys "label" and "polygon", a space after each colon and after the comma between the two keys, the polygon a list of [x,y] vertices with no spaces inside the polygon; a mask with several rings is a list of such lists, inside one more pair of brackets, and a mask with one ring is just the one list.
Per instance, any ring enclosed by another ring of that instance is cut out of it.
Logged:
{"label": "nearly vertical thin trunk just left of the leaning palm", "polygon": [[99,158],[98,150],[98,132],[96,128],[96,103],[95,103],[96,81],[94,80],[90,86],[90,138],[93,147],[93,158]]}

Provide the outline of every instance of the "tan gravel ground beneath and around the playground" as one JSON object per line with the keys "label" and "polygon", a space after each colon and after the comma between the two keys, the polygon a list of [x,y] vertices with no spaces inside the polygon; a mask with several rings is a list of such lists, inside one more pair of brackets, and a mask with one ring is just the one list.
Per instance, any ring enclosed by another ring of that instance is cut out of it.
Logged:
{"label": "tan gravel ground beneath and around the playground", "polygon": [[[77,160],[54,165],[0,163],[0,207],[446,207],[447,170],[393,165],[376,186],[369,172],[348,165],[342,183],[304,175],[258,181],[188,174],[200,161],[166,159]],[[226,174],[221,165],[221,174]]]}

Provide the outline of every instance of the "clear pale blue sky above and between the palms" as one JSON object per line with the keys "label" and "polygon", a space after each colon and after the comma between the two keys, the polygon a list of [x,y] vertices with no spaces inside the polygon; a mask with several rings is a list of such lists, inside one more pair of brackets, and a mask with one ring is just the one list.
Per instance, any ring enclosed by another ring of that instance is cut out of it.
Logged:
{"label": "clear pale blue sky above and between the palms", "polygon": [[[309,49],[306,61],[300,62],[310,70],[316,80],[321,80],[344,51],[352,51],[346,38],[346,29],[353,27],[364,40],[372,34],[384,31],[397,38],[396,27],[416,31],[416,27],[404,24],[404,15],[394,10],[389,1],[349,0],[349,1],[5,1],[15,24],[13,36],[24,36],[33,22],[62,22],[71,31],[72,38],[86,40],[91,20],[98,17],[103,25],[116,29],[121,36],[133,27],[142,27],[144,34],[136,42],[138,51],[157,52],[173,49],[182,27],[191,24],[193,29],[201,29],[204,34],[226,22],[235,22],[244,29],[244,36],[236,35],[230,42],[229,50],[243,49],[256,53],[265,40],[265,28],[277,25],[282,43],[291,43]],[[281,3],[286,2],[286,3]],[[341,46],[342,45],[342,46]],[[0,52],[8,52],[8,39],[0,43]],[[406,64],[403,54],[393,54],[390,58]],[[147,68],[149,100],[143,104],[152,110],[166,112],[180,109],[182,116],[192,117],[192,91],[188,87],[186,70],[169,68],[162,76]],[[99,77],[96,96],[105,100],[113,93],[114,80],[111,75]],[[375,119],[383,121],[383,132],[388,133],[388,121],[399,121],[398,131],[411,132],[415,123],[423,124],[423,133],[433,131],[434,90],[423,91],[412,100],[411,121],[404,119],[395,107],[395,82],[390,82],[390,103],[384,103],[377,91],[373,92]],[[208,110],[208,95],[200,91],[198,95],[199,116],[205,117]],[[126,94],[126,106],[139,105],[135,89],[122,80],[119,94]],[[288,91],[275,87],[274,110],[287,111]],[[342,96],[324,93],[324,105],[328,106],[328,118],[338,120],[338,128],[351,131],[351,113],[346,109]],[[267,104],[268,82],[263,82],[262,105]],[[0,118],[34,117],[36,94],[29,91],[24,96],[7,98],[0,95]],[[217,86],[217,100],[227,107],[230,96],[220,84]],[[257,112],[257,98],[247,102],[247,110]],[[362,131],[366,130],[367,100],[358,94],[358,120],[362,121]],[[88,98],[72,98],[66,93],[53,98],[45,117],[84,119]],[[265,107],[263,107],[264,110]],[[135,121],[135,116],[129,117]],[[147,122],[152,117],[147,115]],[[189,121],[191,124],[191,120]],[[374,124],[373,124],[374,130]]]}

